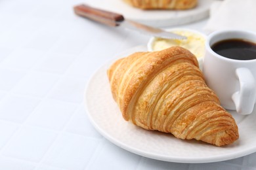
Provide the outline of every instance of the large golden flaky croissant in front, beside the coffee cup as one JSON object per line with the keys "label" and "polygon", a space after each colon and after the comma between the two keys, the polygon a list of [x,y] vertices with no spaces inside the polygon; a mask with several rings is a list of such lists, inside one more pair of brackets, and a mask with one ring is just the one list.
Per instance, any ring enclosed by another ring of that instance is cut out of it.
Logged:
{"label": "large golden flaky croissant in front, beside the coffee cup", "polygon": [[108,78],[123,118],[137,126],[217,146],[238,139],[234,118],[205,84],[196,57],[184,48],[118,59]]}

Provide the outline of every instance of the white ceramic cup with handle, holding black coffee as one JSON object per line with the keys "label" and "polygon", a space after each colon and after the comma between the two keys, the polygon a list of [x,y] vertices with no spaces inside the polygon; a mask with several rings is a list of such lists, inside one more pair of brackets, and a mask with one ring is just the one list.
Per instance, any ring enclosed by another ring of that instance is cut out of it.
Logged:
{"label": "white ceramic cup with handle, holding black coffee", "polygon": [[209,88],[219,97],[225,109],[251,114],[256,101],[256,59],[225,58],[211,48],[227,39],[256,42],[256,33],[245,30],[222,30],[211,33],[205,42],[203,74]]}

